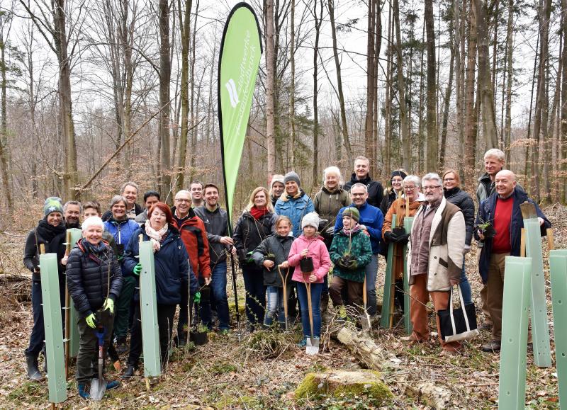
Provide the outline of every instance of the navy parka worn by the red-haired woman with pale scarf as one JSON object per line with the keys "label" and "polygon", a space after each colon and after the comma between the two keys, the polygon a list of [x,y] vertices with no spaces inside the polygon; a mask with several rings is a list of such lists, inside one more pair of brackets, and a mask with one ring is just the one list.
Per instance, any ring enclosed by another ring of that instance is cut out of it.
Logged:
{"label": "navy parka worn by the red-haired woman with pale scarf", "polygon": [[[131,275],[138,263],[139,240],[143,234],[145,241],[150,238],[145,233],[145,224],[137,229],[128,242],[124,254],[123,269]],[[181,241],[179,231],[169,225],[167,237],[162,241],[162,247],[154,254],[156,300],[159,304],[179,304],[181,302],[181,287],[190,286],[191,295],[198,290],[198,282],[191,265],[185,244]],[[137,278],[137,276],[136,276]],[[137,286],[139,289],[139,285]],[[135,300],[140,299],[136,290]]]}

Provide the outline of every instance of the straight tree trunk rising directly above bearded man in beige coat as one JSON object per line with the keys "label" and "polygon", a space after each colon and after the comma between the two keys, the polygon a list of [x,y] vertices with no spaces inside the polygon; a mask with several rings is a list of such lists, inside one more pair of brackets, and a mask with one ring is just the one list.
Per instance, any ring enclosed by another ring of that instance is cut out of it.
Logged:
{"label": "straight tree trunk rising directly above bearded man in beige coat", "polygon": [[437,163],[437,84],[435,82],[435,29],[433,25],[433,0],[425,0],[425,32],[427,33],[427,159],[425,171],[439,170]]}

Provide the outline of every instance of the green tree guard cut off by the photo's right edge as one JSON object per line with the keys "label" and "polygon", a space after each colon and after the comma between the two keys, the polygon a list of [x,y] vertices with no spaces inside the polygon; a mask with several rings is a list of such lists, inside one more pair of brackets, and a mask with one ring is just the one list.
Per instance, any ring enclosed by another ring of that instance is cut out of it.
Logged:
{"label": "green tree guard cut off by the photo's right edge", "polygon": [[549,252],[559,407],[567,406],[567,249]]}

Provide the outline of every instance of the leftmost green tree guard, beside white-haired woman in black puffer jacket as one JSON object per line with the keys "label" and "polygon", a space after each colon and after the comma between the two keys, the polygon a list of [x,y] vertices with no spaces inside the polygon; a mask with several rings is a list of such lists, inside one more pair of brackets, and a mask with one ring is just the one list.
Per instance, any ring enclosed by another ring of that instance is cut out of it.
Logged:
{"label": "leftmost green tree guard, beside white-haired woman in black puffer jacket", "polygon": [[63,321],[59,299],[57,254],[40,255],[41,295],[43,297],[43,326],[47,353],[47,387],[49,401],[61,403],[67,399],[65,360],[63,354]]}

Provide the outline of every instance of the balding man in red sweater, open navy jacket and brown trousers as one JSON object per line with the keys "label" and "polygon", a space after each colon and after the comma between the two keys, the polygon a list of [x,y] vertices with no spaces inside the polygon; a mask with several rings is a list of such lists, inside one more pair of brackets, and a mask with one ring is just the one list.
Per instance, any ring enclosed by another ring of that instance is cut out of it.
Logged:
{"label": "balding man in red sweater, open navy jacket and brown trousers", "polygon": [[495,235],[485,236],[485,231],[478,229],[475,232],[477,240],[483,241],[478,270],[486,283],[488,311],[493,319],[493,340],[481,347],[485,352],[500,351],[500,338],[502,337],[502,299],[504,295],[504,266],[506,256],[520,256],[520,237],[524,220],[520,204],[528,201],[536,207],[541,236],[545,236],[546,228],[551,222],[539,209],[527,193],[516,186],[516,176],[512,171],[503,170],[495,177],[496,192],[483,200],[478,210],[476,224],[490,221],[494,227]]}

